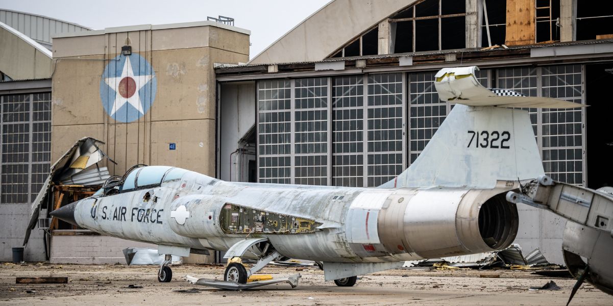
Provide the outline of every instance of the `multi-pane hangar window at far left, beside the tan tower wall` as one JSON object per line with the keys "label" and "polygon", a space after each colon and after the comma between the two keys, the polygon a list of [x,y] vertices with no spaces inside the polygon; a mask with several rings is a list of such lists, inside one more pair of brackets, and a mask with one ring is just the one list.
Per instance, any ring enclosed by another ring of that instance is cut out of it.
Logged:
{"label": "multi-pane hangar window at far left, beside the tan tower wall", "polygon": [[0,96],[0,203],[26,204],[47,179],[51,93]]}

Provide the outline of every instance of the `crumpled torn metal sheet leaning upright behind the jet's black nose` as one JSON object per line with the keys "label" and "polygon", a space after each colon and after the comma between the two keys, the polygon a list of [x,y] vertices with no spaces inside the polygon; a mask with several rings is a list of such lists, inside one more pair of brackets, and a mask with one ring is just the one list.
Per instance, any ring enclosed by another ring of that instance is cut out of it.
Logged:
{"label": "crumpled torn metal sheet leaning upright behind the jet's black nose", "polygon": [[[85,168],[87,168],[92,166],[97,162],[100,162],[104,157],[115,163],[115,161],[110,159],[110,157],[108,157],[104,151],[97,146],[97,143],[104,144],[104,142],[96,140],[95,138],[83,137],[72,147],[70,147],[70,149],[68,149],[68,151],[66,151],[66,153],[59,158],[59,160],[51,165],[47,179],[45,179],[42,188],[40,188],[40,192],[38,195],[36,195],[36,198],[32,202],[30,222],[28,223],[28,228],[26,228],[26,235],[23,239],[23,247],[28,245],[30,233],[34,229],[34,226],[36,226],[39,218],[40,207],[42,203],[47,203],[50,189],[49,187],[51,184],[53,184],[53,182],[67,179],[68,177],[83,171],[83,169],[80,167],[85,166]],[[87,159],[79,159],[81,156],[87,156]],[[71,168],[72,166],[75,168]]]}

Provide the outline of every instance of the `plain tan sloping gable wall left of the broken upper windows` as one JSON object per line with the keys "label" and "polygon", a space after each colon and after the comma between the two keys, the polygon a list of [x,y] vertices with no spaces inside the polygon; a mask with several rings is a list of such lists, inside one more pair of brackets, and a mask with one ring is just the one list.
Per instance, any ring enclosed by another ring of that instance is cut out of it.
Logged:
{"label": "plain tan sloping gable wall left of the broken upper windows", "polygon": [[321,61],[379,21],[416,0],[334,0],[314,13],[249,64]]}

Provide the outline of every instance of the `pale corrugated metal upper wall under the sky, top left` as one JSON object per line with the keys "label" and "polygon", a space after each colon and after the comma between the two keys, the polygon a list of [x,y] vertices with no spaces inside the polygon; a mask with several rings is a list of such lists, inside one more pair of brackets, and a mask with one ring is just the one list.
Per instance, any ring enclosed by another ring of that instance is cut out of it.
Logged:
{"label": "pale corrugated metal upper wall under the sky, top left", "polygon": [[45,45],[51,45],[55,34],[91,31],[78,24],[13,10],[0,10],[0,22]]}

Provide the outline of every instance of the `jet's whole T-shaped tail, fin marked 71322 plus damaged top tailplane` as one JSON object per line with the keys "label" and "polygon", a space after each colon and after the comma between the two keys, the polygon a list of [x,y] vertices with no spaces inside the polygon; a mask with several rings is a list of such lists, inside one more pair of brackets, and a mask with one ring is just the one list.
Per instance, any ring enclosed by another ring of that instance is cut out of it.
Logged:
{"label": "jet's whole T-shaped tail, fin marked 71322 plus damaged top tailplane", "polygon": [[454,106],[415,162],[381,187],[493,188],[498,180],[534,179],[544,174],[528,112],[495,105],[581,105],[550,98],[497,96],[479,84],[475,69],[443,69],[436,74],[441,100],[461,104]]}

